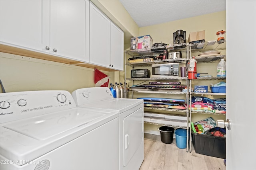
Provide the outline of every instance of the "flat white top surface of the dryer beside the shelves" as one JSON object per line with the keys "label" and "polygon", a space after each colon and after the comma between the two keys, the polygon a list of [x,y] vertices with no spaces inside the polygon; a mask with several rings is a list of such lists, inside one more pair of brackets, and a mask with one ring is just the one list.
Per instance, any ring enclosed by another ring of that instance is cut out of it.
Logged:
{"label": "flat white top surface of the dryer beside the shelves", "polygon": [[118,111],[118,113],[123,113],[124,111],[132,109],[142,103],[143,103],[142,99],[113,98],[113,99],[93,102],[90,104],[80,105],[78,107],[112,110],[112,111]]}

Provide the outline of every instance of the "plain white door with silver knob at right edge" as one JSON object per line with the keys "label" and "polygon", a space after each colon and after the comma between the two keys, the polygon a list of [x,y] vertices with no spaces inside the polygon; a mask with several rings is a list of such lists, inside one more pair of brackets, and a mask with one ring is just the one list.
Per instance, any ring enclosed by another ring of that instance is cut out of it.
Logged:
{"label": "plain white door with silver knob at right edge", "polygon": [[227,170],[255,169],[255,16],[255,0],[226,0]]}

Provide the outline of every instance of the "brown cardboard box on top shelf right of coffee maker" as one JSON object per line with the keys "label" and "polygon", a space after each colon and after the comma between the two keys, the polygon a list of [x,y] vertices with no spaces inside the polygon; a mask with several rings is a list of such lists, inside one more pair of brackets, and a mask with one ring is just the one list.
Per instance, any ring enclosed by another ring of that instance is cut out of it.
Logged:
{"label": "brown cardboard box on top shelf right of coffee maker", "polygon": [[191,49],[202,49],[205,42],[205,31],[189,33],[188,42],[195,44],[191,46]]}

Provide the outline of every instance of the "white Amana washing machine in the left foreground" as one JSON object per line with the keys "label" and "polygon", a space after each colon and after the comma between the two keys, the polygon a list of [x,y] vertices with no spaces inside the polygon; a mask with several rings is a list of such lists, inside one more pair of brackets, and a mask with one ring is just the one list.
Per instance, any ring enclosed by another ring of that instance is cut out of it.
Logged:
{"label": "white Amana washing machine in the left foreground", "polygon": [[118,170],[118,112],[68,91],[0,94],[0,170]]}

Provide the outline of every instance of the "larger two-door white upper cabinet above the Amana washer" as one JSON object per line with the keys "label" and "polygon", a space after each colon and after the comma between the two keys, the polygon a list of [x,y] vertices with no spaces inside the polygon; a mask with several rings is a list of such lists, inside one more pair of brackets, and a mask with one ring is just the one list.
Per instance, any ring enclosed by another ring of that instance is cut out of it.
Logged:
{"label": "larger two-door white upper cabinet above the Amana washer", "polygon": [[89,0],[0,0],[0,43],[89,60]]}

